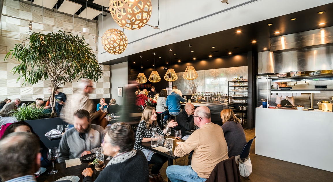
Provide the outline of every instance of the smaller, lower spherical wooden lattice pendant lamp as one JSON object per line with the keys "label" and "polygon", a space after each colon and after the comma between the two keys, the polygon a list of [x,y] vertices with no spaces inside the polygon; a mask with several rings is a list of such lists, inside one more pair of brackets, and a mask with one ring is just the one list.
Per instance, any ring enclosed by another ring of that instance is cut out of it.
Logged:
{"label": "smaller, lower spherical wooden lattice pendant lamp", "polygon": [[104,32],[102,46],[110,54],[121,54],[127,48],[127,37],[123,31],[112,28]]}

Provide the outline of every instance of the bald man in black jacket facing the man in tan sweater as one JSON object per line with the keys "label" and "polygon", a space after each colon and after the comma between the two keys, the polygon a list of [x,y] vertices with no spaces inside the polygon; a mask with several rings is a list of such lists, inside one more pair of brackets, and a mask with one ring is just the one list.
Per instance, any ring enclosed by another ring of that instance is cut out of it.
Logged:
{"label": "bald man in black jacket facing the man in tan sweater", "polygon": [[185,133],[186,130],[194,128],[194,106],[191,103],[186,103],[184,109],[177,116],[178,126],[174,127],[175,130],[180,130],[181,135],[189,135]]}

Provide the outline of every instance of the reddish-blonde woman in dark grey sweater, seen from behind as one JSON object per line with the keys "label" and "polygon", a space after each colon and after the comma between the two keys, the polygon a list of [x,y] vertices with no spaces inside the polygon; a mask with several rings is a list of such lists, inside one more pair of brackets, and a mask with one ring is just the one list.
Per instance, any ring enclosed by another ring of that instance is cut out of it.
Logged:
{"label": "reddish-blonde woman in dark grey sweater, seen from behind", "polygon": [[245,133],[231,109],[221,111],[222,129],[228,145],[228,156],[240,155],[246,145]]}

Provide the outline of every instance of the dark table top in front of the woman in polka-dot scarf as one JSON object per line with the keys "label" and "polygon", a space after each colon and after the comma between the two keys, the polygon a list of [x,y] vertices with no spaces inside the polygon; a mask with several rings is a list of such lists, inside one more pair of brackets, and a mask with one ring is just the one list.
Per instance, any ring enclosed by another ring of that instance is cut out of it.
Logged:
{"label": "dark table top in front of the woman in polka-dot scarf", "polygon": [[[107,158],[108,156],[105,156]],[[105,160],[104,158],[104,165],[106,166],[109,160]],[[52,170],[52,165],[46,168],[46,171],[41,174],[37,179],[38,182],[53,182],[65,176],[78,176],[80,178],[80,182],[82,182],[84,176],[82,176],[82,171],[88,167],[88,163],[92,162],[93,160],[84,161],[80,158],[81,165],[72,166],[66,168],[66,163],[55,163],[54,169],[58,170],[59,172],[56,174],[48,174],[49,171]],[[92,167],[92,170],[95,171],[95,168]],[[93,178],[96,178],[96,174],[93,174]]]}

